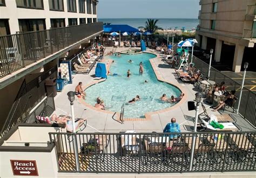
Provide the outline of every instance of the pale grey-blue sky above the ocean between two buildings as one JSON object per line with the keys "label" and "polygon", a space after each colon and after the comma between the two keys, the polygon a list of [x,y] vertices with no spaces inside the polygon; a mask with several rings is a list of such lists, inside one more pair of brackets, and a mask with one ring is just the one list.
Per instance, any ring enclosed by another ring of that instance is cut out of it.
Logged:
{"label": "pale grey-blue sky above the ocean between two buildings", "polygon": [[98,18],[198,18],[199,0],[99,0]]}

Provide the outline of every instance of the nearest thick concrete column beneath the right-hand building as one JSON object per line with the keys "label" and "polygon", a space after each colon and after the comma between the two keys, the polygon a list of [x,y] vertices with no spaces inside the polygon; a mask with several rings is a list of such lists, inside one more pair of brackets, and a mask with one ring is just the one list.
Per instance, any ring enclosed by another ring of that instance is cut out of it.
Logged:
{"label": "nearest thick concrete column beneath the right-hand building", "polygon": [[233,60],[233,72],[240,72],[242,65],[242,57],[244,56],[245,46],[235,45],[235,54]]}

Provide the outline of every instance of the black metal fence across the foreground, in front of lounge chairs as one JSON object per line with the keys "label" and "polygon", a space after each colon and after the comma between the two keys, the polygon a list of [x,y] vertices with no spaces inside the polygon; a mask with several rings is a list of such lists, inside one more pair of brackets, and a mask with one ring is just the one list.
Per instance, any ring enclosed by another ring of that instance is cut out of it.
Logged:
{"label": "black metal fence across the foreground, in front of lounge chairs", "polygon": [[[55,143],[58,172],[184,173],[256,170],[256,132],[49,134],[51,143]],[[170,139],[175,136],[178,139]],[[69,141],[70,137],[75,139]],[[196,144],[192,155],[193,138]]]}

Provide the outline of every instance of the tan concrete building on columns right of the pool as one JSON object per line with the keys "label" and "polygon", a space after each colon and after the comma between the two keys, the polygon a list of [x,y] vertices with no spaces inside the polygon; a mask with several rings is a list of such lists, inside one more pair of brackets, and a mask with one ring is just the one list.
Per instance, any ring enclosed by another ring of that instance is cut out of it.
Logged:
{"label": "tan concrete building on columns right of the pool", "polygon": [[[240,72],[244,62],[255,66],[255,0],[200,0],[198,46],[214,49],[214,60]],[[232,66],[231,66],[232,64]]]}

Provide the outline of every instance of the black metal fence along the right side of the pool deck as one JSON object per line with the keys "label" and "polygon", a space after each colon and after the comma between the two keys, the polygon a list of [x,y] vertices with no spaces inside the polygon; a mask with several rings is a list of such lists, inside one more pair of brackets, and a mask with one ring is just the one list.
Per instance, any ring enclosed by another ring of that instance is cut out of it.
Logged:
{"label": "black metal fence along the right side of the pool deck", "polygon": [[[208,74],[209,65],[204,61],[198,59],[196,56],[193,56],[193,63],[204,73],[204,76]],[[225,82],[226,90],[232,91],[235,90],[235,95],[240,95],[241,84],[235,82],[227,75],[221,73],[219,70],[211,67],[210,80],[215,81],[216,83]],[[234,104],[234,109],[237,109],[238,102]],[[254,127],[256,127],[256,94],[247,88],[242,89],[242,97],[239,108],[239,113],[244,116]]]}

